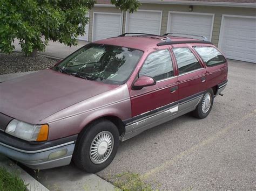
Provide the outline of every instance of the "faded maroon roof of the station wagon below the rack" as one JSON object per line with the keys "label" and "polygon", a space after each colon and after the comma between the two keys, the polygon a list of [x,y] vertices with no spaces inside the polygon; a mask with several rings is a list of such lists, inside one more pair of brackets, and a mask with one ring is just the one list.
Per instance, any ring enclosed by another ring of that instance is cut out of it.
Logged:
{"label": "faded maroon roof of the station wagon below the rack", "polygon": [[[166,41],[168,37],[171,41]],[[134,49],[140,49],[146,51],[149,48],[153,48],[161,45],[169,44],[186,44],[186,43],[207,43],[207,41],[201,41],[199,39],[177,36],[125,36],[125,37],[112,37],[103,40],[95,41],[97,44],[116,45],[122,47],[129,47]]]}

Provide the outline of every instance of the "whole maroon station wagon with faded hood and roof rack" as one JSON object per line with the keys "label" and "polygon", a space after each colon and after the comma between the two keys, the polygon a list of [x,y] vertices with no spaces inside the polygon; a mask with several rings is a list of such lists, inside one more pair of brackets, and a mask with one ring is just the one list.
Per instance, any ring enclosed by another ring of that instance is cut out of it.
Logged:
{"label": "whole maroon station wagon with faded hood and roof rack", "polygon": [[132,33],[0,83],[0,153],[33,169],[108,166],[119,141],[188,112],[205,118],[227,60],[205,38]]}

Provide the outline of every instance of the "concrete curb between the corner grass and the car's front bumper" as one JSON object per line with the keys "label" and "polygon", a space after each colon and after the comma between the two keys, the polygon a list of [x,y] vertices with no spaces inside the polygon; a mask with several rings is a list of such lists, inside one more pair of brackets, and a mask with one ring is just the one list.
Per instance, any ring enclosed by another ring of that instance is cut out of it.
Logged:
{"label": "concrete curb between the corner grass and the car's front bumper", "polygon": [[48,191],[40,182],[32,178],[21,167],[12,162],[10,159],[0,154],[0,166],[4,167],[9,172],[17,172],[19,177],[24,180],[25,184],[29,184],[27,189],[30,191]]}

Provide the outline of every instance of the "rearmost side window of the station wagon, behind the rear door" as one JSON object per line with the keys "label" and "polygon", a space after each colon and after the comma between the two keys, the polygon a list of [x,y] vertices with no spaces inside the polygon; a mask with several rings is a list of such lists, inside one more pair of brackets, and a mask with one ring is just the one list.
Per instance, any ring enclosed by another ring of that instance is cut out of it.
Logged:
{"label": "rearmost side window of the station wagon, behind the rear door", "polygon": [[225,57],[214,47],[194,46],[193,48],[201,56],[207,66],[220,65],[226,62]]}

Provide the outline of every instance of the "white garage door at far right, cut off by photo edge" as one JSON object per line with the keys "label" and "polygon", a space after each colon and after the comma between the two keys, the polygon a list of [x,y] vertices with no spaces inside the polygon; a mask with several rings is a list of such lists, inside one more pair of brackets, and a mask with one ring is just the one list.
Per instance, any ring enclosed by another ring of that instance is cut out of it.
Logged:
{"label": "white garage door at far right, cut off by photo edge", "polygon": [[223,15],[219,48],[227,58],[256,63],[256,17]]}

